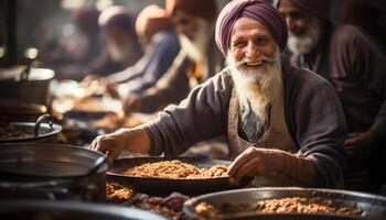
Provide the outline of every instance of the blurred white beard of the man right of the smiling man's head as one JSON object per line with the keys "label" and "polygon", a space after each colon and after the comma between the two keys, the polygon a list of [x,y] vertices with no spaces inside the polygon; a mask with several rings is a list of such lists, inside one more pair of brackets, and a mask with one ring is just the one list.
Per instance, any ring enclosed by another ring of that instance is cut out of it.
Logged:
{"label": "blurred white beard of the man right of the smiling man's head", "polygon": [[291,31],[288,35],[288,48],[296,55],[309,54],[317,45],[321,35],[321,25],[318,19],[311,20],[305,33],[297,36]]}

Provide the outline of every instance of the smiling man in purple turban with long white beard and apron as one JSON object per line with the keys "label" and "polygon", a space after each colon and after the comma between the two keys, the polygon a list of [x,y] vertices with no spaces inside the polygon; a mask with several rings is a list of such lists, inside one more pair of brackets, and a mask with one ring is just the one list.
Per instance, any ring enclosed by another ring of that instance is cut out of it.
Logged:
{"label": "smiling man in purple turban with long white beard and apron", "polygon": [[114,158],[124,148],[171,156],[226,135],[230,176],[276,173],[301,185],[339,186],[346,135],[339,99],[326,80],[280,58],[286,42],[286,21],[274,7],[229,2],[216,23],[227,68],[157,120],[98,136],[90,147]]}

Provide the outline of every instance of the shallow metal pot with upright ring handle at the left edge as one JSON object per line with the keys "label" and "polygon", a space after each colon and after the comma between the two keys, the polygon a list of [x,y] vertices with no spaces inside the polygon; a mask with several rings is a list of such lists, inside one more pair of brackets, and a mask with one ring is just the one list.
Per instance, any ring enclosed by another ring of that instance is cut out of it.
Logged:
{"label": "shallow metal pot with upright ring handle at the left edge", "polygon": [[[43,123],[47,121],[49,123]],[[3,128],[4,127],[4,128]],[[53,123],[50,114],[41,116],[36,122],[10,122],[0,124],[0,143],[56,141],[62,127]]]}

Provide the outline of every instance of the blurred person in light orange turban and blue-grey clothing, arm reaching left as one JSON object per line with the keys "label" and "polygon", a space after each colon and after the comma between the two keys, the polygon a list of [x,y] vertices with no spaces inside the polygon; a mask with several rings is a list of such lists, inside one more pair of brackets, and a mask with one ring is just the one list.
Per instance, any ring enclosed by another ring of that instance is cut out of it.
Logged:
{"label": "blurred person in light orange turban and blue-grey clothing, arm reaching left", "polygon": [[157,4],[150,4],[140,11],[136,32],[144,51],[143,56],[133,66],[99,79],[111,95],[118,94],[118,86],[124,88],[120,89],[124,90],[120,98],[128,92],[141,92],[154,86],[180,52],[172,20]]}

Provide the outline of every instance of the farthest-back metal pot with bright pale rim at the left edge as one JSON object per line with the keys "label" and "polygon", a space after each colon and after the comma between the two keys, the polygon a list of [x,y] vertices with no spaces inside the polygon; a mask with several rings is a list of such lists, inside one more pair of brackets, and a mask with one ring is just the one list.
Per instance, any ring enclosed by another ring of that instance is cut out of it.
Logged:
{"label": "farthest-back metal pot with bright pale rim at the left edge", "polygon": [[0,98],[12,98],[28,103],[49,106],[49,86],[55,73],[46,68],[24,70],[25,68],[17,66],[0,69]]}

